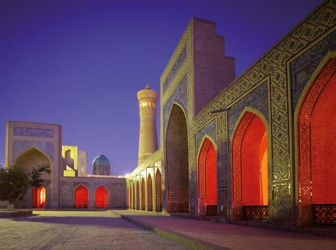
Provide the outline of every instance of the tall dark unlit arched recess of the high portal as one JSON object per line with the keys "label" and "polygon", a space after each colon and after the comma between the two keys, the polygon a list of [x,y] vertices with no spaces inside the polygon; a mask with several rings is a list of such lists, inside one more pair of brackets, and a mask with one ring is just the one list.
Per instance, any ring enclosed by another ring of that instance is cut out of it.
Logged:
{"label": "tall dark unlit arched recess of the high portal", "polygon": [[170,213],[189,212],[188,131],[183,110],[176,104],[167,126],[167,209]]}

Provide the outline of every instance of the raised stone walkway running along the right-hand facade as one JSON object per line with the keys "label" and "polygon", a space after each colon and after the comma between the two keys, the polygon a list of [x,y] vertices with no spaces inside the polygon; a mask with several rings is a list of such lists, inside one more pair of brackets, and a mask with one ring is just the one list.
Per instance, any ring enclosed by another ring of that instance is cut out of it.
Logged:
{"label": "raised stone walkway running along the right-hand facade", "polygon": [[130,210],[113,212],[123,215],[134,223],[140,222],[229,249],[336,249],[336,239],[329,237],[162,216],[150,212]]}

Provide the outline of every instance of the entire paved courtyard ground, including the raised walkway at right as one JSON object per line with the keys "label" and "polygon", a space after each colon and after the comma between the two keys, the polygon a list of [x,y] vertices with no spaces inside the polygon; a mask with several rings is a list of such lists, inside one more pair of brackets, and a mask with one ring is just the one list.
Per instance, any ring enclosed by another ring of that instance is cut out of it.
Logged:
{"label": "entire paved courtyard ground, including the raised walkway at right", "polygon": [[1,249],[187,249],[175,242],[194,249],[336,248],[329,237],[130,210],[35,210],[1,218],[0,235]]}

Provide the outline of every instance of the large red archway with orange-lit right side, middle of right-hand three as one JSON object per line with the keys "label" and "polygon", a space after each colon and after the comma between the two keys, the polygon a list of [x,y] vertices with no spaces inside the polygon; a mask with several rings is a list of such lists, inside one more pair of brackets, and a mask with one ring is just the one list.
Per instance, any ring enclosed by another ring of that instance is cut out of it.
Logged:
{"label": "large red archway with orange-lit right side, middle of right-hand three", "polygon": [[262,119],[246,112],[232,143],[233,216],[267,219],[267,132]]}

